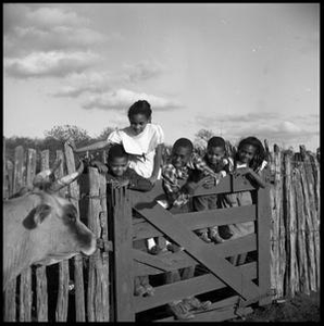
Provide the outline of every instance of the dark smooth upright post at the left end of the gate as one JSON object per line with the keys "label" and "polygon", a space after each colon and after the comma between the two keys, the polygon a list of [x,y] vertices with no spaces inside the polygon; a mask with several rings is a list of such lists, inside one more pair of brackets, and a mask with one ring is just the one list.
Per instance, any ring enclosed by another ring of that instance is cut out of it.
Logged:
{"label": "dark smooth upright post at the left end of the gate", "polygon": [[135,322],[133,306],[134,276],[132,254],[132,205],[129,191],[112,190],[114,240],[115,322]]}

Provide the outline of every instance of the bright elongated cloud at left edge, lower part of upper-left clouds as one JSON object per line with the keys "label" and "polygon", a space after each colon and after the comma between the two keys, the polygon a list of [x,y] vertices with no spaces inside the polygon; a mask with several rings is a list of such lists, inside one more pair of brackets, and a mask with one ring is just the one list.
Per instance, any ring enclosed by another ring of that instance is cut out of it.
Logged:
{"label": "bright elongated cloud at left edge, lower part of upper-left clouds", "polygon": [[24,58],[4,60],[4,67],[14,77],[60,77],[83,71],[98,60],[91,52],[33,52]]}

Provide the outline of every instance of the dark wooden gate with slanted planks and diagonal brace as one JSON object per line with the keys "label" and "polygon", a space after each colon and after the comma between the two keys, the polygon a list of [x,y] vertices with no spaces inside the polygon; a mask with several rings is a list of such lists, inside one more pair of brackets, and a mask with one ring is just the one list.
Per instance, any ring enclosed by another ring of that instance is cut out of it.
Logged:
{"label": "dark wooden gate with slanted planks and diagonal brace", "polygon": [[[232,296],[212,299],[209,311],[197,313],[192,321],[224,321],[251,311],[251,303],[271,302],[270,291],[270,199],[269,188],[256,189],[246,178],[228,175],[217,187],[200,187],[196,195],[252,191],[251,205],[190,212],[173,215],[157,200],[163,196],[161,183],[150,192],[116,189],[111,192],[110,222],[114,246],[113,300],[116,322],[134,322],[136,314],[161,308],[173,300],[212,293],[225,289]],[[134,213],[141,217],[133,218]],[[214,225],[253,221],[256,233],[224,243],[205,243],[192,230]],[[133,241],[167,237],[184,251],[152,255],[133,249]],[[235,266],[226,258],[257,252],[257,260]],[[202,266],[205,273],[173,284],[155,287],[153,297],[134,296],[134,277],[159,275],[187,266]],[[227,290],[226,290],[227,289]],[[155,317],[159,314],[155,314]],[[173,321],[162,315],[154,321]]]}

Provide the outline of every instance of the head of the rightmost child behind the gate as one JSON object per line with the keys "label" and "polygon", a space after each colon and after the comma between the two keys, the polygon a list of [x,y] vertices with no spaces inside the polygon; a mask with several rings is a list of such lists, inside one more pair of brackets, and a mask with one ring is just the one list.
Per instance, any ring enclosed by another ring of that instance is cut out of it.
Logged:
{"label": "head of the rightmost child behind the gate", "polygon": [[262,142],[253,136],[242,139],[238,145],[236,159],[253,170],[258,168],[265,159]]}

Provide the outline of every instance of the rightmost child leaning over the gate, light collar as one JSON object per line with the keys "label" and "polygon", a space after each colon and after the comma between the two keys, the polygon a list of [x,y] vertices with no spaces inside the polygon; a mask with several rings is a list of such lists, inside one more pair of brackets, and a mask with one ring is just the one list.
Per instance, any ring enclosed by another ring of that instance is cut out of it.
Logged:
{"label": "rightmost child leaning over the gate, light collar", "polygon": [[[261,141],[256,137],[247,137],[242,139],[237,148],[236,155],[234,158],[234,172],[235,176],[246,176],[252,184],[258,187],[265,187],[265,181],[261,176],[262,170],[266,166],[264,160],[265,152]],[[221,197],[222,208],[233,208],[240,205],[252,204],[252,197],[250,191],[240,191],[234,193],[226,193]],[[246,235],[254,233],[254,222],[245,222],[239,224],[228,225],[233,237],[237,239]],[[220,233],[222,226],[220,227]],[[246,261],[247,254],[240,254],[238,256],[230,258],[232,263],[235,265],[242,264]]]}

